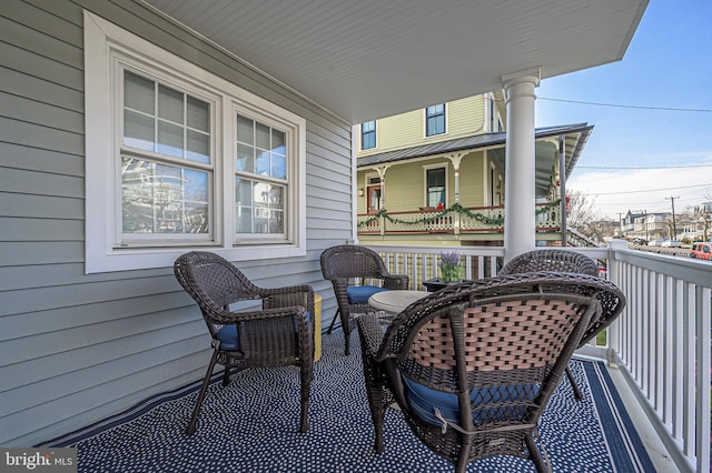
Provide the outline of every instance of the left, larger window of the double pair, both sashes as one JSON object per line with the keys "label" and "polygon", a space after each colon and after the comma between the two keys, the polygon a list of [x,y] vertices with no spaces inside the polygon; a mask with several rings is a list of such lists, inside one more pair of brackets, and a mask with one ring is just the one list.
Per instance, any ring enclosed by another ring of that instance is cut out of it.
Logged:
{"label": "left, larger window of the double pair, both sashes", "polygon": [[123,69],[121,245],[212,241],[215,107]]}

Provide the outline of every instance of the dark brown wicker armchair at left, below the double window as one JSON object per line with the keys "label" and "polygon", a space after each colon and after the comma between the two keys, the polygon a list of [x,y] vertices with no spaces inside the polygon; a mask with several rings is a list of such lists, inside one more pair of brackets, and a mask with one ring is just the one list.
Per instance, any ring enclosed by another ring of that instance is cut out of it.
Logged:
{"label": "dark brown wicker armchair at left, below the double window", "polygon": [[[182,254],[176,260],[174,272],[178,282],[200,306],[212,338],[212,358],[186,433],[191,435],[196,431],[200,406],[216,364],[225,366],[224,386],[229,383],[233,368],[299,366],[299,432],[307,432],[314,369],[315,313],[312,286],[258,288],[230,262],[209,252]],[[248,300],[261,300],[261,309],[230,311],[230,304]]]}

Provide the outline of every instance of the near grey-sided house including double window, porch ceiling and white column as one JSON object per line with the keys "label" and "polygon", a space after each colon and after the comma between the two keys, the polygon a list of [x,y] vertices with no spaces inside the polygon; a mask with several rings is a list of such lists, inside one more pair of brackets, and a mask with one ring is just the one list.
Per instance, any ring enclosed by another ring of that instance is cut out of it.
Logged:
{"label": "near grey-sided house including double window, porch ceiling and white column", "polygon": [[[536,85],[621,60],[646,3],[1,1],[0,444],[202,376],[186,251],[312,284],[330,318],[319,254],[357,236],[358,123],[504,89],[528,212]],[[535,243],[507,215],[505,259]]]}

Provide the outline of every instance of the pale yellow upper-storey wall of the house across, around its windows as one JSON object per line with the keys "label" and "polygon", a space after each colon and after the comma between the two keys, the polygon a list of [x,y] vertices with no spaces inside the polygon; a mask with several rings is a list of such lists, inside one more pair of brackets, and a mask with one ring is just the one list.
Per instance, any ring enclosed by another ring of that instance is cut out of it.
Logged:
{"label": "pale yellow upper-storey wall of the house across, around its windows", "polygon": [[433,137],[425,135],[424,109],[376,120],[376,148],[365,151],[359,149],[358,155],[377,154],[484,132],[484,102],[482,95],[447,102],[445,133]]}

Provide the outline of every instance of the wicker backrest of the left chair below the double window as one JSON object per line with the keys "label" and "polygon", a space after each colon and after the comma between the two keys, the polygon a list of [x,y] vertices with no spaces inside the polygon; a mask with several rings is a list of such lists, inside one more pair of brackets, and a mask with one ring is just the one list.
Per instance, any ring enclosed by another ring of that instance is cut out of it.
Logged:
{"label": "wicker backrest of the left chair below the double window", "polygon": [[181,254],[174,263],[174,273],[182,288],[198,303],[202,315],[212,323],[221,320],[229,304],[261,299],[259,288],[253,284],[233,263],[207,251]]}

